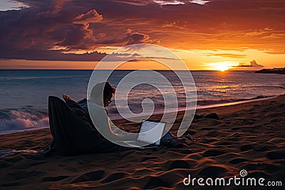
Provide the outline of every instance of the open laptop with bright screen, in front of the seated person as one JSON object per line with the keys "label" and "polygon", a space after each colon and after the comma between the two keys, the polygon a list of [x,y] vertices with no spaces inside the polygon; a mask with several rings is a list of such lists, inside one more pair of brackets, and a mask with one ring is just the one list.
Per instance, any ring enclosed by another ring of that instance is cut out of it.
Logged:
{"label": "open laptop with bright screen, in front of the seated person", "polygon": [[[123,141],[130,147],[155,148],[160,146],[160,139],[165,131],[166,122],[157,122],[154,120],[142,120],[140,133],[136,141]],[[151,132],[148,132],[150,131]]]}

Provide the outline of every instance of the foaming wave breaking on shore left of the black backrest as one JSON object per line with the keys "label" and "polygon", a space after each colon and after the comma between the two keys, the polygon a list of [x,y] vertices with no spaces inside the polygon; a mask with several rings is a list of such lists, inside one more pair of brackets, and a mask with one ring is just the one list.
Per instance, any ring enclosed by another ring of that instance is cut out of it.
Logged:
{"label": "foaming wave breaking on shore left of the black backrest", "polygon": [[22,108],[0,110],[0,132],[49,127],[47,112]]}

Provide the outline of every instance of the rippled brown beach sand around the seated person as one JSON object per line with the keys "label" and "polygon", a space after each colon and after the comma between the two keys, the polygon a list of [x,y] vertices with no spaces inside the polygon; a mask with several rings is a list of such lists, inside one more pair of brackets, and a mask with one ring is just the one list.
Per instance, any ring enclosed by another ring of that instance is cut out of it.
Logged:
{"label": "rippled brown beach sand around the seated person", "polygon": [[[183,179],[247,176],[285,185],[285,95],[270,100],[197,110],[217,112],[201,118],[186,134],[187,147],[129,150],[74,157],[18,153],[0,159],[1,189],[192,189]],[[181,113],[177,119],[182,117]],[[155,115],[152,119],[160,118]],[[124,120],[124,127],[138,127]],[[179,123],[175,124],[174,129]],[[172,131],[175,132],[175,131]],[[0,135],[0,150],[41,150],[51,141],[48,129]],[[265,182],[264,182],[265,183]],[[240,186],[219,187],[236,189]],[[195,183],[195,189],[203,188]],[[266,187],[264,187],[266,188]],[[249,188],[251,189],[251,188]]]}

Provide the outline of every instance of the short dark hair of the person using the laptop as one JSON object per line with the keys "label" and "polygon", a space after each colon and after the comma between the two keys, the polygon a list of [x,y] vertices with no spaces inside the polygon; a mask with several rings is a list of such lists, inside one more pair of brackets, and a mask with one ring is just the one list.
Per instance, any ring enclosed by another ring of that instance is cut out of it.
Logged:
{"label": "short dark hair of the person using the laptop", "polygon": [[93,87],[93,89],[91,90],[90,98],[100,97],[100,95],[102,95],[103,88],[104,88],[103,99],[105,99],[110,95],[115,94],[115,88],[113,88],[113,86],[108,81],[106,81],[106,82],[97,83]]}

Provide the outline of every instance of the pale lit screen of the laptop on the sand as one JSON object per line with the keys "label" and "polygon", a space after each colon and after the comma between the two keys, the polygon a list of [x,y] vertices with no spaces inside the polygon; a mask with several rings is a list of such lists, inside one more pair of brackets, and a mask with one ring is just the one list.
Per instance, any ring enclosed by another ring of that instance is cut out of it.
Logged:
{"label": "pale lit screen of the laptop on the sand", "polygon": [[159,145],[163,131],[165,130],[165,125],[165,122],[154,122],[150,120],[142,121],[137,140]]}

